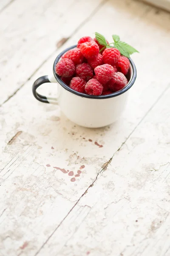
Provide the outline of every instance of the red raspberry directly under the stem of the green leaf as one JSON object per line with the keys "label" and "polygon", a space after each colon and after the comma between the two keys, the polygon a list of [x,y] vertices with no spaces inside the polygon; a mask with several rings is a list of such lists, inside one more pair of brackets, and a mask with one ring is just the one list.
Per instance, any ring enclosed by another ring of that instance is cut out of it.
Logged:
{"label": "red raspberry directly under the stem of the green leaf", "polygon": [[119,61],[120,58],[120,52],[116,48],[106,48],[103,52],[103,62],[110,64],[110,65],[115,65],[117,61]]}

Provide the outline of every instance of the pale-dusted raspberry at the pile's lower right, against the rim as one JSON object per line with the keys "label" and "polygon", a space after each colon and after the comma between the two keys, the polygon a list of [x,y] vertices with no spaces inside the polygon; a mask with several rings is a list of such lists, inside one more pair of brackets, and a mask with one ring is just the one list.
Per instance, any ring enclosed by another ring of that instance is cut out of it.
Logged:
{"label": "pale-dusted raspberry at the pile's lower right, against the rim", "polygon": [[112,79],[108,82],[109,89],[113,92],[117,92],[123,89],[127,84],[127,78],[124,74],[117,72],[113,75]]}

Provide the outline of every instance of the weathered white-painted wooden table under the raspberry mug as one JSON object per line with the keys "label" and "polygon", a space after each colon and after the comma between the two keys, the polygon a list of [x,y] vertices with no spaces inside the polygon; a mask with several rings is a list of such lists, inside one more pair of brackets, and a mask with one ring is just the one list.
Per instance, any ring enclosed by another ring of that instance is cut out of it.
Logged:
{"label": "weathered white-painted wooden table under the raspberry mug", "polygon": [[[31,86],[95,31],[140,54],[124,116],[93,130]],[[170,255],[169,47],[170,14],[139,1],[0,1],[0,256]]]}

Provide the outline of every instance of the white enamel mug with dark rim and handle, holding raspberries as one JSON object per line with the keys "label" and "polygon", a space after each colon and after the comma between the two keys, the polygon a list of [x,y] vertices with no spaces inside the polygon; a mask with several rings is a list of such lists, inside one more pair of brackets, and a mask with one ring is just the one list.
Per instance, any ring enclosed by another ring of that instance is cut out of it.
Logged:
{"label": "white enamel mug with dark rim and handle, holding raspberries", "polygon": [[[34,97],[40,102],[58,104],[62,113],[77,125],[88,128],[99,128],[110,125],[115,122],[125,109],[127,102],[128,90],[136,80],[136,67],[131,59],[130,70],[127,74],[128,84],[116,93],[108,95],[93,96],[79,93],[66,85],[55,73],[55,66],[61,56],[69,49],[75,48],[76,45],[65,49],[54,61],[52,76],[41,76],[32,87]],[[37,88],[44,83],[57,83],[57,99],[48,98],[37,93]]]}

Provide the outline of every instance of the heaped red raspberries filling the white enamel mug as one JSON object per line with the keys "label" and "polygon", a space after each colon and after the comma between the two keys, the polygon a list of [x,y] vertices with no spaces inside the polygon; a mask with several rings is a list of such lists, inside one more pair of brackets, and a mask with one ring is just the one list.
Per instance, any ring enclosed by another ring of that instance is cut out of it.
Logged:
{"label": "heaped red raspberries filling the white enamel mug", "polygon": [[108,95],[128,83],[130,61],[116,48],[105,48],[85,36],[56,64],[55,72],[73,90],[88,95]]}

